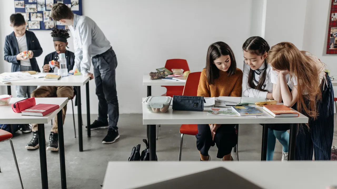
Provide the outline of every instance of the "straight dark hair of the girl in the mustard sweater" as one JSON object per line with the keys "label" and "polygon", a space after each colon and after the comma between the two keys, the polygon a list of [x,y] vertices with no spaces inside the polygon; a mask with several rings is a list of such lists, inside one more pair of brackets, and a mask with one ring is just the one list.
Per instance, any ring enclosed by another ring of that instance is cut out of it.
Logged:
{"label": "straight dark hair of the girl in the mustard sweater", "polygon": [[214,60],[222,55],[229,55],[231,58],[231,66],[229,66],[227,73],[228,76],[234,75],[236,72],[236,61],[233,50],[227,43],[216,42],[208,47],[206,58],[206,73],[208,84],[214,84],[214,80],[219,78],[220,70],[215,66]]}

